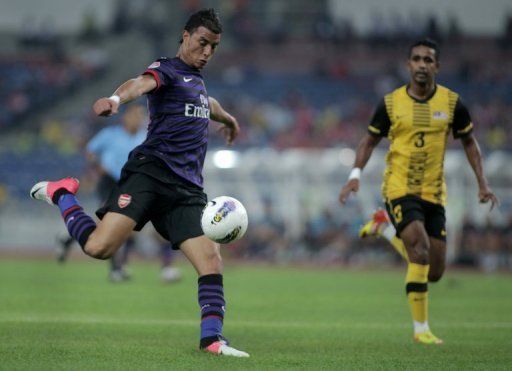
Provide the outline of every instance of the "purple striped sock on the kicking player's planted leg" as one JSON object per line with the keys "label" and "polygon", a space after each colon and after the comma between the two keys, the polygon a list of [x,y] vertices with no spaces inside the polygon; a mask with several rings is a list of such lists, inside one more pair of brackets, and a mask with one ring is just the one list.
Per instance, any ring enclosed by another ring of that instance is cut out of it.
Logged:
{"label": "purple striped sock on the kicking player's planted leg", "polygon": [[222,337],[226,302],[222,274],[199,277],[199,306],[201,307],[201,348],[206,348]]}

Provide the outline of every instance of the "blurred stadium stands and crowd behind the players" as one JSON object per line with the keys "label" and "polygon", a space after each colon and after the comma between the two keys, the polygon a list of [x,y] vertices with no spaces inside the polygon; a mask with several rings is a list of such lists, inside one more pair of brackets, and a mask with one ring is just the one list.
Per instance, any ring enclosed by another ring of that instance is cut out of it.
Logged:
{"label": "blurred stadium stands and crowd behind the players", "polygon": [[[407,81],[408,44],[441,43],[438,82],[473,116],[501,207],[488,213],[458,143],[450,144],[449,260],[512,270],[512,3],[507,0],[0,0],[0,254],[47,254],[64,231],[55,210],[31,201],[41,179],[76,176],[96,208],[83,148],[113,119],[91,106],[156,58],[173,56],[192,11],[213,6],[224,34],[205,71],[209,93],[242,125],[226,148],[212,130],[210,197],[247,207],[234,257],[266,262],[392,265],[383,241],[360,241],[380,206],[387,143],[341,208],[337,195],[378,99]],[[212,129],[213,126],[212,126]],[[384,142],[384,141],[383,141]],[[144,246],[144,242],[142,242]],[[143,248],[151,254],[151,246]]]}

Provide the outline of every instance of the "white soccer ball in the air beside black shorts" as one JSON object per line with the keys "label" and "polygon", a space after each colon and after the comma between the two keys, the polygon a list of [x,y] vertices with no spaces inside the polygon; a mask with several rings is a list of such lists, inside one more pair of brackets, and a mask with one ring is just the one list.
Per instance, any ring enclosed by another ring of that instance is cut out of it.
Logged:
{"label": "white soccer ball in the air beside black shorts", "polygon": [[201,227],[210,240],[230,243],[242,238],[247,231],[247,211],[236,198],[219,196],[203,209]]}

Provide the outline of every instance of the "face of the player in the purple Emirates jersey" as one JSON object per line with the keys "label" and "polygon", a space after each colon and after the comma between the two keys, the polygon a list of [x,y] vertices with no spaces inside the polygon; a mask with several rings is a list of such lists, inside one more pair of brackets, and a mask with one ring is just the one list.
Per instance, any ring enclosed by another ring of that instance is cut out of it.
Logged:
{"label": "face of the player in the purple Emirates jersey", "polygon": [[190,66],[201,69],[215,53],[220,34],[200,26],[194,32],[183,31],[180,57]]}

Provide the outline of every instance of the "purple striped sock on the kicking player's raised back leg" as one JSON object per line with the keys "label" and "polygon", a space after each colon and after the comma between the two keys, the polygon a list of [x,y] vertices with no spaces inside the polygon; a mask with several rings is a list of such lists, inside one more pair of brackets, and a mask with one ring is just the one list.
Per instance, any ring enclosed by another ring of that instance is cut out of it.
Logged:
{"label": "purple striped sock on the kicking player's raised back leg", "polygon": [[83,249],[89,235],[96,229],[96,223],[84,212],[71,193],[60,196],[57,205],[69,235],[77,240]]}

